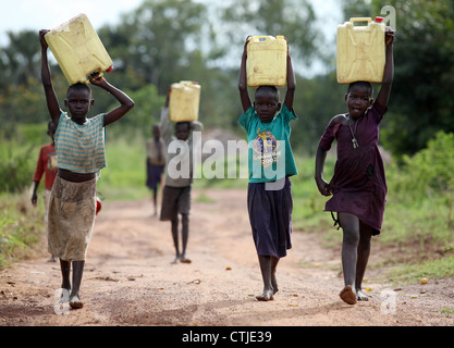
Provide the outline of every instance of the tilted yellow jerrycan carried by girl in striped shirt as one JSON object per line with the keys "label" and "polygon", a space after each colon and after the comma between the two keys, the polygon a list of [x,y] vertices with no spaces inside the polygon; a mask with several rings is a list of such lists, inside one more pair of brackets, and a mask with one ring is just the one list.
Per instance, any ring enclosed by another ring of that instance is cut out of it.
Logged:
{"label": "tilted yellow jerrycan carried by girl in striped shirt", "polygon": [[112,60],[88,17],[81,13],[45,36],[70,85],[88,84],[88,75],[110,72]]}

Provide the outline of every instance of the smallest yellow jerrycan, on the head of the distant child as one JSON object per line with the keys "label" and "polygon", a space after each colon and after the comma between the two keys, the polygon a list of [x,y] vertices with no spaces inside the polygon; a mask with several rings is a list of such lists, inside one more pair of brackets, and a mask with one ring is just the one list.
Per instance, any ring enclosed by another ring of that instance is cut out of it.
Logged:
{"label": "smallest yellow jerrycan, on the head of the distant child", "polygon": [[181,80],[170,86],[169,120],[192,122],[198,120],[200,85],[197,82]]}

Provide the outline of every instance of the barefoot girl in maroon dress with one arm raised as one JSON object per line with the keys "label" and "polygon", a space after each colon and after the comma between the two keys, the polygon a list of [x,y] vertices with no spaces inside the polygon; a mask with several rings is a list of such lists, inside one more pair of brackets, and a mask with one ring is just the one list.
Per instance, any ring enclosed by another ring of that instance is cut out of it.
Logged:
{"label": "barefoot girl in maroon dress with one arm raised", "polygon": [[[321,195],[332,198],[324,210],[338,213],[343,229],[344,288],[340,297],[348,304],[367,301],[361,291],[372,235],[380,234],[386,196],[383,160],[378,149],[379,128],[388,111],[392,79],[394,34],[386,29],[386,61],[377,100],[372,86],[356,82],[345,95],[348,113],[334,116],[322,135],[316,156],[316,183]],[[338,161],[330,183],[323,179],[327,151],[338,142]],[[334,216],[334,215],[333,215]]]}

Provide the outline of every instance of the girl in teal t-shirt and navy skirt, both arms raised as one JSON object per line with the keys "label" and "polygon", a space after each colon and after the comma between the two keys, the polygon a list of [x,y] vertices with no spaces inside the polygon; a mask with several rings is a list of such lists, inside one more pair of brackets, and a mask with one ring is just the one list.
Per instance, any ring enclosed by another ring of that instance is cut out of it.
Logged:
{"label": "girl in teal t-shirt and navy skirt, both arms raised", "polygon": [[247,40],[240,69],[238,89],[244,113],[238,123],[246,129],[249,144],[247,207],[263,279],[263,291],[256,298],[269,301],[278,293],[278,262],[292,248],[293,200],[290,176],[297,174],[297,171],[289,137],[290,121],[297,119],[293,112],[296,84],[292,60],[287,54],[284,104],[281,104],[279,90],[274,86],[258,87],[253,104],[247,92],[246,46]]}

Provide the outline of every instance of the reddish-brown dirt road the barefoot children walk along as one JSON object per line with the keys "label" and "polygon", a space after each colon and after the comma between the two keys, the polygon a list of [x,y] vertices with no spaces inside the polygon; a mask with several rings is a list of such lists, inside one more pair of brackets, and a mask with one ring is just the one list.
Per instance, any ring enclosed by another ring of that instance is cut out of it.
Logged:
{"label": "reddish-brown dirt road the barefoot children walk along", "polygon": [[[204,200],[197,200],[204,195]],[[208,199],[207,199],[208,198]],[[279,293],[259,302],[261,277],[244,190],[193,192],[188,258],[174,257],[170,223],[150,214],[149,201],[105,202],[88,250],[82,299],[54,303],[58,263],[47,253],[0,272],[0,325],[20,326],[426,326],[454,325],[453,278],[395,289],[366,273],[370,301],[343,303],[339,250],[314,234],[294,232],[278,268]],[[327,219],[330,219],[327,215]],[[373,254],[371,262],[377,262]]]}

